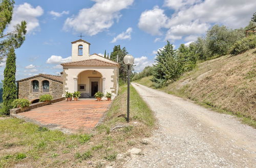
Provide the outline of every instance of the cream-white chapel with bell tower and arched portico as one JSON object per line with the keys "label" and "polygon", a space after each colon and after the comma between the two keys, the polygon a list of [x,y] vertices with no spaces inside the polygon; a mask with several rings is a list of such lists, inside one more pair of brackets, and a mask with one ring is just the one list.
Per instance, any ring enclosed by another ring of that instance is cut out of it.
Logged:
{"label": "cream-white chapel with bell tower and arched portico", "polygon": [[98,91],[118,92],[119,64],[90,55],[90,43],[82,39],[72,42],[72,62],[63,63],[63,94],[81,92],[82,98],[93,97]]}

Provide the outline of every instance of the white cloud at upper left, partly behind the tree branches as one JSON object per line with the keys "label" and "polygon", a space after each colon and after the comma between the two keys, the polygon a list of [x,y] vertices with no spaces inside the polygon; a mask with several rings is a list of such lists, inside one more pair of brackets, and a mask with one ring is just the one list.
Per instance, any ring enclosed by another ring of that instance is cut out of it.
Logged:
{"label": "white cloud at upper left, partly behind the tree branches", "polygon": [[31,33],[40,30],[40,24],[37,17],[41,16],[44,10],[40,6],[33,8],[28,3],[15,6],[13,10],[12,21],[8,26],[8,31],[13,30],[13,26],[19,24],[21,21],[25,20],[27,22],[27,32]]}

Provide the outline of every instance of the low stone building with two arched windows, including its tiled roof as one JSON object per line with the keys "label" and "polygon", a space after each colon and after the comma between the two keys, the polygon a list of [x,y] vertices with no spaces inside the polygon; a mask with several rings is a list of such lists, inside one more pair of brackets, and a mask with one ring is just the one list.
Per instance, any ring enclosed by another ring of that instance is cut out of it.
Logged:
{"label": "low stone building with two arched windows, including its tiled roof", "polygon": [[61,76],[38,74],[18,80],[17,88],[19,99],[28,99],[35,103],[44,94],[50,94],[53,98],[62,97],[63,80]]}

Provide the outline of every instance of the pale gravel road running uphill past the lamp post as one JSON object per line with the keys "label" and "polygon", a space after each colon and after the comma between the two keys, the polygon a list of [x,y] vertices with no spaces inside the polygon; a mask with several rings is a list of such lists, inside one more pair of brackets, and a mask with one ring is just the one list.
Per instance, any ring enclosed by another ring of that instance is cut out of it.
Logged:
{"label": "pale gravel road running uphill past the lamp post", "polygon": [[124,167],[256,167],[256,129],[236,117],[132,83],[159,128]]}

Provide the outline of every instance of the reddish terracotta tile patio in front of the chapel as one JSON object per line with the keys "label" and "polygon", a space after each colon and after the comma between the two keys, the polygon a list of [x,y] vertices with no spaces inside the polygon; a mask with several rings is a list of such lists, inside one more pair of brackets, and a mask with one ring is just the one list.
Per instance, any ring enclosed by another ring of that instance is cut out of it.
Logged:
{"label": "reddish terracotta tile patio in front of the chapel", "polygon": [[95,127],[110,106],[111,101],[80,99],[79,101],[60,101],[17,114],[32,119],[40,125],[57,125],[72,131]]}

